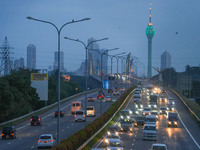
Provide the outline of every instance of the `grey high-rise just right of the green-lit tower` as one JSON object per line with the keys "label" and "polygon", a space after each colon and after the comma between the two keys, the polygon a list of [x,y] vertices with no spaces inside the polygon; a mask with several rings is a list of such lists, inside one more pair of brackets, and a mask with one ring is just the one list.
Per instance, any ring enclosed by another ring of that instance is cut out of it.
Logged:
{"label": "grey high-rise just right of the green-lit tower", "polygon": [[160,70],[171,68],[171,55],[165,51],[161,55],[161,67]]}

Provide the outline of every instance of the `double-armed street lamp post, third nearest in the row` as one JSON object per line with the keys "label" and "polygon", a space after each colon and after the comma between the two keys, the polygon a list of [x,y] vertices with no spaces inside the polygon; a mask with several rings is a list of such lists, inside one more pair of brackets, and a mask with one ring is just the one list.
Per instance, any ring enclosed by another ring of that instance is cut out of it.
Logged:
{"label": "double-armed street lamp post, third nearest in the row", "polygon": [[[114,50],[118,50],[119,48],[113,48],[113,49],[108,49],[104,52],[100,52],[98,49],[89,49],[89,50],[92,50],[92,51],[96,51],[98,52],[100,55],[101,55],[101,92],[103,91],[103,79],[102,79],[102,62],[103,62],[103,55],[107,55],[105,54],[105,52],[108,52],[108,51],[114,51]],[[108,55],[109,56],[109,55]],[[102,115],[102,96],[101,96],[101,104],[100,104],[100,116]]]}

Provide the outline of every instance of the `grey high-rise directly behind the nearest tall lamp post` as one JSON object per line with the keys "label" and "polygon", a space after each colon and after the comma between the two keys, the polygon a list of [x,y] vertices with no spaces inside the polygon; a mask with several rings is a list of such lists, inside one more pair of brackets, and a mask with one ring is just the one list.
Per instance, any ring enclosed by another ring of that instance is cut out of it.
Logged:
{"label": "grey high-rise directly behind the nearest tall lamp post", "polygon": [[[58,69],[58,51],[54,52],[53,70]],[[60,51],[60,70],[64,71],[64,52]]]}

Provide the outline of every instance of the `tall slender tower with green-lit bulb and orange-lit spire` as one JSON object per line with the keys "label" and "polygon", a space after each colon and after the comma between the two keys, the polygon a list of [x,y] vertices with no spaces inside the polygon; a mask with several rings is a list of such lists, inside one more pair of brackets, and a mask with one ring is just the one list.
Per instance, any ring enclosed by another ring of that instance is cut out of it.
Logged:
{"label": "tall slender tower with green-lit bulb and orange-lit spire", "polygon": [[149,15],[149,23],[146,27],[146,36],[148,38],[148,67],[147,67],[147,77],[152,77],[152,38],[154,36],[154,28],[151,23],[151,2],[150,2],[150,15]]}

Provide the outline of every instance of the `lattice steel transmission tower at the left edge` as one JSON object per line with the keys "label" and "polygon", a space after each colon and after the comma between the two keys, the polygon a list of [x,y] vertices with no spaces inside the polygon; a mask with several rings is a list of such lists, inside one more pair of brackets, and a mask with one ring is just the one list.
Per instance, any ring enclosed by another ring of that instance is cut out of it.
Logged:
{"label": "lattice steel transmission tower at the left edge", "polygon": [[11,70],[11,60],[13,57],[10,55],[13,54],[10,50],[13,49],[10,47],[10,44],[8,43],[7,37],[5,37],[3,45],[0,47],[0,59],[1,59],[1,68],[0,73],[4,76],[9,74]]}

